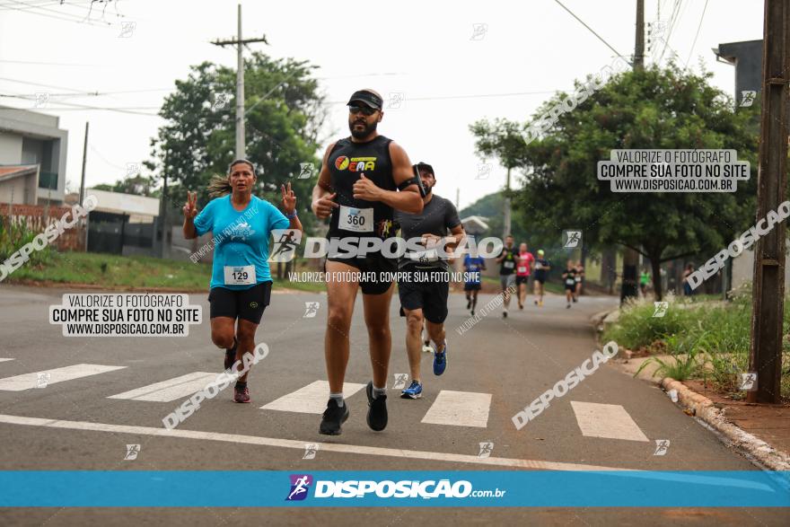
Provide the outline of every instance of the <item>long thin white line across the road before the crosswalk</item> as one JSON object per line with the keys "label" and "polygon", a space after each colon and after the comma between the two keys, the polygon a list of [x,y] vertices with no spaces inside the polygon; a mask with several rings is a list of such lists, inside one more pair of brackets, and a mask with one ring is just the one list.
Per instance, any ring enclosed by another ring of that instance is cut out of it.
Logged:
{"label": "long thin white line across the road before the crosswalk", "polygon": [[110,432],[113,434],[130,435],[159,435],[161,437],[174,437],[180,439],[202,439],[206,441],[222,441],[224,443],[235,444],[258,444],[260,446],[274,446],[280,448],[292,448],[304,451],[304,445],[308,443],[318,444],[320,452],[338,452],[363,454],[373,456],[383,456],[390,458],[400,458],[426,461],[447,461],[454,463],[472,463],[478,465],[490,465],[496,467],[513,467],[517,469],[532,470],[624,470],[628,472],[637,471],[630,469],[618,469],[614,467],[601,467],[596,465],[582,465],[578,463],[565,463],[560,461],[537,461],[537,460],[517,460],[512,458],[481,458],[476,455],[449,453],[449,452],[426,452],[419,450],[403,450],[399,448],[382,448],[378,446],[361,446],[355,444],[335,444],[317,443],[314,440],[296,441],[294,439],[279,439],[277,437],[259,437],[257,435],[222,434],[218,432],[200,432],[198,430],[183,430],[181,428],[154,428],[153,426],[127,426],[110,425],[105,423],[89,423],[87,421],[65,421],[58,419],[42,419],[40,417],[8,416],[0,414],[0,424],[22,425],[22,426],[44,426],[48,428],[60,428],[68,430],[90,430],[94,432]]}

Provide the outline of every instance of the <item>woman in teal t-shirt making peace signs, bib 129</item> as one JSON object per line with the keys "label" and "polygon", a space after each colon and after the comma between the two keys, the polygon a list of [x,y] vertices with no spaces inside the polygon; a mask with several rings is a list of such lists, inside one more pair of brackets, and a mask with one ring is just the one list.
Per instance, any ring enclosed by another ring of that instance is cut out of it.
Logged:
{"label": "woman in teal t-shirt making peace signs, bib 129", "polygon": [[[252,196],[252,163],[231,163],[227,178],[215,178],[209,195],[215,197],[198,215],[198,193],[188,192],[184,205],[184,238],[211,232],[215,239],[211,273],[211,340],[225,348],[225,370],[255,349],[255,332],[271,297],[268,239],[274,229],[302,231],[296,216],[296,195],[283,185],[285,215],[268,201]],[[250,402],[245,372],[236,382],[233,400]]]}

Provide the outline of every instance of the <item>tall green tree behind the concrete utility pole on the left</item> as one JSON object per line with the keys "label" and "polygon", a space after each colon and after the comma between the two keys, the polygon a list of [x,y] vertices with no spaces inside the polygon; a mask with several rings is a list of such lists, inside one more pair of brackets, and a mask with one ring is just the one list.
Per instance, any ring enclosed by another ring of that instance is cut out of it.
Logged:
{"label": "tall green tree behind the concrete utility pole on the left", "polygon": [[[253,53],[244,70],[246,148],[258,175],[256,195],[278,205],[280,185],[290,181],[301,213],[310,210],[320,168],[318,134],[326,117],[312,76],[315,67]],[[167,173],[172,205],[183,205],[189,189],[198,191],[198,206],[205,206],[208,181],[227,174],[235,150],[235,83],[234,69],[204,62],[176,81],[175,92],[165,99],[160,115],[167,122],[152,138],[152,160],[145,164],[157,180]],[[299,179],[302,163],[315,168],[309,179]],[[314,223],[309,214],[301,219],[306,229]]]}

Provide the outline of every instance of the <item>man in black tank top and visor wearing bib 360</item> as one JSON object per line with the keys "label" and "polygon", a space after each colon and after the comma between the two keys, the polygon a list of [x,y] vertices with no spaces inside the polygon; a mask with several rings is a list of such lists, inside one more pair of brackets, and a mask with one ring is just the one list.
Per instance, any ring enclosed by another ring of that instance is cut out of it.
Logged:
{"label": "man in black tank top and visor wearing bib 360", "polygon": [[[360,90],[351,96],[348,101],[351,136],[329,145],[318,183],[312,189],[313,213],[320,219],[329,218],[330,249],[325,268],[329,312],[324,339],[329,402],[319,428],[326,435],[339,435],[340,426],[348,418],[343,382],[351,315],[360,288],[373,366],[373,381],[368,382],[366,390],[367,424],[376,431],[387,426],[393,287],[391,280],[380,278],[382,274],[395,272],[397,261],[384,258],[381,252],[358,257],[354,250],[366,238],[394,236],[394,211],[417,214],[423,209],[423,200],[406,152],[376,131],[384,115],[382,102],[382,96],[373,90]],[[332,250],[333,241],[342,241],[344,249]]]}

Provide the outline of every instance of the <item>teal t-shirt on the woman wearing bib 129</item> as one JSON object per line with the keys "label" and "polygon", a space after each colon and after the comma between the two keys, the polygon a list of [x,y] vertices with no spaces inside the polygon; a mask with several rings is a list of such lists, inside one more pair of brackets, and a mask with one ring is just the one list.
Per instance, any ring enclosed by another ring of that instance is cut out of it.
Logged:
{"label": "teal t-shirt on the woman wearing bib 129", "polygon": [[[198,236],[214,235],[214,267],[211,288],[250,289],[271,282],[268,268],[268,239],[273,229],[287,229],[290,222],[276,206],[253,196],[241,212],[233,208],[231,195],[215,198],[195,218]],[[225,266],[255,266],[255,284],[225,285]]]}

